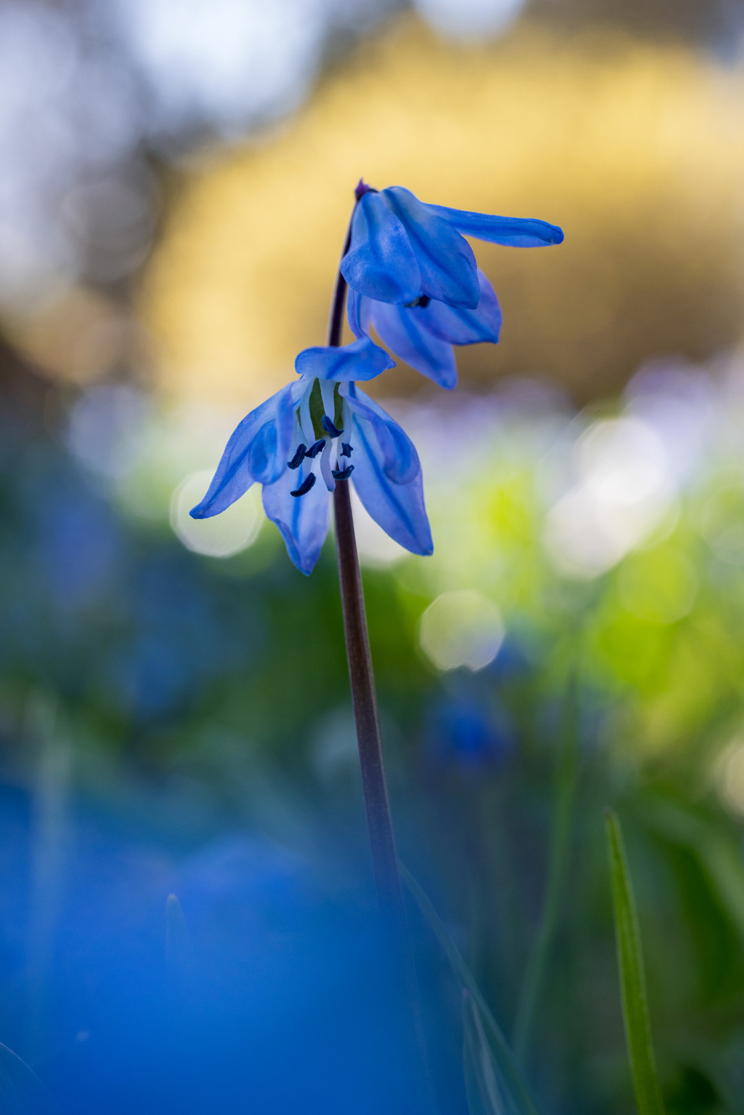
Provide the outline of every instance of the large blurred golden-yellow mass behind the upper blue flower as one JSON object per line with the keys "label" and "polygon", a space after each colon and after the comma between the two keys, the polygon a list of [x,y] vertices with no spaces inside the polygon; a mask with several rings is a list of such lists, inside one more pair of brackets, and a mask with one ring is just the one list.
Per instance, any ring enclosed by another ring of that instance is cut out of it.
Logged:
{"label": "large blurred golden-yellow mass behind the upper blue flower", "polygon": [[[577,401],[647,358],[736,346],[744,306],[744,77],[693,47],[521,23],[444,42],[413,17],[331,70],[258,145],[174,186],[139,312],[167,396],[250,405],[325,338],[352,188],[561,224],[560,248],[475,245],[504,311],[464,382],[562,381]],[[422,385],[388,372],[377,394]]]}

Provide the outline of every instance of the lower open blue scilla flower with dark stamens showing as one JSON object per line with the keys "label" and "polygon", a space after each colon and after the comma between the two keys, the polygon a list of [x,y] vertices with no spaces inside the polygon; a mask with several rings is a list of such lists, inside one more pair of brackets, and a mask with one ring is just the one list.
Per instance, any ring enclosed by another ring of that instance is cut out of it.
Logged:
{"label": "lower open blue scilla flower with dark stamens showing", "polygon": [[328,533],[329,495],[350,478],[392,539],[412,553],[431,554],[415,446],[354,382],[393,366],[368,338],[305,349],[294,361],[299,380],[243,418],[192,516],[219,515],[252,484],[262,484],[267,515],[297,568],[310,573]]}

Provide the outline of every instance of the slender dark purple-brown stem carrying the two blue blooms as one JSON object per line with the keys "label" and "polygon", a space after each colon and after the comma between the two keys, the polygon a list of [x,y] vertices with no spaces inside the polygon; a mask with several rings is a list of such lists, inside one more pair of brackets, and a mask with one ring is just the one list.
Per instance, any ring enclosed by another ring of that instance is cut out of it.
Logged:
{"label": "slender dark purple-brown stem carrying the two blue blooms", "polygon": [[[351,229],[349,226],[342,255],[348,251],[350,235]],[[346,280],[339,271],[328,324],[328,343],[332,346],[341,343],[345,294]],[[351,682],[351,701],[357,728],[361,785],[367,812],[367,827],[369,830],[377,899],[380,911],[390,919],[400,933],[405,934],[403,890],[395,852],[387,784],[385,782],[383,744],[379,731],[379,718],[377,716],[375,677],[373,673],[371,655],[369,652],[369,634],[365,613],[361,570],[359,569],[357,541],[354,533],[349,485],[346,481],[339,481],[336,484],[336,491],[334,492],[334,516],[336,520],[336,550],[338,553],[338,573],[341,586],[346,652],[349,663],[349,680]]]}

